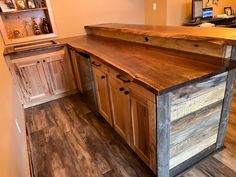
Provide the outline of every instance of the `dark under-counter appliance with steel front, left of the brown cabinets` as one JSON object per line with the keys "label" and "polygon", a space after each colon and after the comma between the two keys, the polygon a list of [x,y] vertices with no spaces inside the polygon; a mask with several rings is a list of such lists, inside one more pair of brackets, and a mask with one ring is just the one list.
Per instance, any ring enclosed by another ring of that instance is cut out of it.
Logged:
{"label": "dark under-counter appliance with steel front, left of the brown cabinets", "polygon": [[84,52],[76,52],[76,59],[79,67],[83,100],[91,111],[98,115],[98,104],[90,55]]}

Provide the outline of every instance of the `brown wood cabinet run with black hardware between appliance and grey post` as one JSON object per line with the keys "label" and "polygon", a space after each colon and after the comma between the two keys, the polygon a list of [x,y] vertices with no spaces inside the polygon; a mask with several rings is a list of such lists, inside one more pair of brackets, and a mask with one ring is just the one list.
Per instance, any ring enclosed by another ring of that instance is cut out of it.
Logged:
{"label": "brown wood cabinet run with black hardware between appliance and grey post", "polygon": [[114,129],[156,173],[155,95],[102,63],[92,62],[101,115],[113,122]]}

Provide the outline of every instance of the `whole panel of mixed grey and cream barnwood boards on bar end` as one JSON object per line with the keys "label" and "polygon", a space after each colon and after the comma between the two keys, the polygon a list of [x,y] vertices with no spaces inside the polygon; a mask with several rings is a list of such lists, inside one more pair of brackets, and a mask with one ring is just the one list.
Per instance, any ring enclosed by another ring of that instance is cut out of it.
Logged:
{"label": "whole panel of mixed grey and cream barnwood boards on bar end", "polygon": [[216,143],[227,75],[170,93],[170,169]]}

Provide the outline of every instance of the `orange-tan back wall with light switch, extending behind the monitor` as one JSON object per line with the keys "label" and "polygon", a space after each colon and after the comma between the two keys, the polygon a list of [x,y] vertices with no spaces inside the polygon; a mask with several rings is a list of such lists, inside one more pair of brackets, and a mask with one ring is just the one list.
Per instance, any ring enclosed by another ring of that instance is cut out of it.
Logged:
{"label": "orange-tan back wall with light switch, extending behind the monitor", "polygon": [[[152,3],[157,2],[157,11],[152,10]],[[163,5],[164,4],[164,5]],[[206,7],[206,0],[203,2]],[[223,14],[224,7],[236,10],[236,0],[220,0],[218,5],[212,5],[214,15]],[[152,25],[180,26],[192,16],[192,0],[145,0],[145,23]]]}

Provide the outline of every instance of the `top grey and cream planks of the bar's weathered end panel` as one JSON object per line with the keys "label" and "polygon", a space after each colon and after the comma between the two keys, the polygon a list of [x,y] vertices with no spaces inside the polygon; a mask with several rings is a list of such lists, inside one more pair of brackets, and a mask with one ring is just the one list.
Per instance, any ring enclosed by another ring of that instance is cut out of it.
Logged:
{"label": "top grey and cream planks of the bar's weathered end panel", "polygon": [[171,121],[222,100],[227,75],[225,72],[171,92]]}

